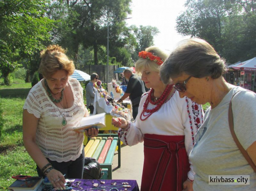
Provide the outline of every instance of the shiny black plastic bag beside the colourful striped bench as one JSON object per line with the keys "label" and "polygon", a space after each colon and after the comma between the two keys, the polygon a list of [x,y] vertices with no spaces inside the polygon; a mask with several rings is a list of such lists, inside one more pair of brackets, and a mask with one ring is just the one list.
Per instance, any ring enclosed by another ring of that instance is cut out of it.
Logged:
{"label": "shiny black plastic bag beside the colourful striped bench", "polygon": [[94,158],[85,157],[83,179],[100,179],[102,175],[100,163]]}

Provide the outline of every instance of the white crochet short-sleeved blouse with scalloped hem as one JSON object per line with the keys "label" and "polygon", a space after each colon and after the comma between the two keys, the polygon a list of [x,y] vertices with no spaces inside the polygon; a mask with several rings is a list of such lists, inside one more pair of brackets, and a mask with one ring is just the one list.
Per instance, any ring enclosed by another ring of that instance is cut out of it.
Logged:
{"label": "white crochet short-sleeved blouse with scalloped hem", "polygon": [[[48,97],[42,82],[38,82],[29,91],[23,109],[39,118],[36,143],[46,158],[57,162],[67,162],[77,159],[83,149],[83,133],[72,131],[80,125],[85,115],[83,88],[80,83],[69,77],[68,85],[73,92],[74,103],[70,108],[58,108]],[[63,126],[62,116],[67,119]]]}

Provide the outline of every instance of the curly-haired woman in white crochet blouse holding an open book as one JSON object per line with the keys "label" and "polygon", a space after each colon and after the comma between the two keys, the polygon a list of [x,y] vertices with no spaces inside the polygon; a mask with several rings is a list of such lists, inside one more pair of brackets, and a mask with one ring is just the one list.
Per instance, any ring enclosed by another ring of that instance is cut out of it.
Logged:
{"label": "curly-haired woman in white crochet blouse holding an open book", "polygon": [[[82,178],[84,135],[73,131],[83,117],[83,88],[69,76],[75,66],[58,45],[41,51],[43,79],[30,90],[23,107],[24,146],[37,164],[39,176],[47,176],[55,188],[65,187],[65,178]],[[88,136],[97,135],[89,130]],[[66,174],[64,177],[63,174]]]}

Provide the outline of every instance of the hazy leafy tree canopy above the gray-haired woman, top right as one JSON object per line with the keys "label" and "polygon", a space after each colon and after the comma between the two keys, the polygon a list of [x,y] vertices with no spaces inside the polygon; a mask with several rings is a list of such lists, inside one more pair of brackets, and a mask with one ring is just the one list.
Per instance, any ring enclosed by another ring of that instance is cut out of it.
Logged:
{"label": "hazy leafy tree canopy above the gray-haired woman, top right", "polygon": [[178,33],[207,40],[229,63],[256,56],[255,0],[187,0],[185,7]]}

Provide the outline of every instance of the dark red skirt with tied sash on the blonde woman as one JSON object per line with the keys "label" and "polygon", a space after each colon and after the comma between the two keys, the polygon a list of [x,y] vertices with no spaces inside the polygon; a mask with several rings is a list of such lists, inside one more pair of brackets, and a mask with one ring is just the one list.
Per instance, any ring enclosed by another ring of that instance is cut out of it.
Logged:
{"label": "dark red skirt with tied sash on the blonde woman", "polygon": [[185,136],[144,136],[141,191],[182,191],[190,170]]}

